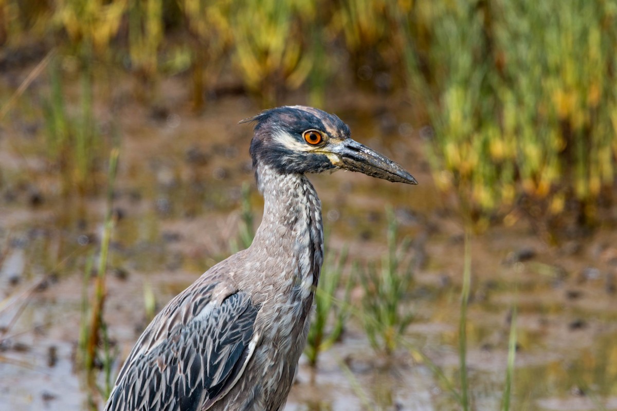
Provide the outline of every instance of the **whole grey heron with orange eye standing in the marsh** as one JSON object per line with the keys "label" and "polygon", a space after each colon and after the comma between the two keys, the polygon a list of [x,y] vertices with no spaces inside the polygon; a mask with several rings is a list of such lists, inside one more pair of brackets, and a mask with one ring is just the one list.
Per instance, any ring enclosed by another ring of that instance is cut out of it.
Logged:
{"label": "whole grey heron with orange eye standing in the marsh", "polygon": [[417,184],[317,108],[273,108],[245,121],[255,122],[251,156],[265,198],[255,239],[152,320],[106,410],[283,409],[323,261],[321,205],[304,174],[341,168]]}

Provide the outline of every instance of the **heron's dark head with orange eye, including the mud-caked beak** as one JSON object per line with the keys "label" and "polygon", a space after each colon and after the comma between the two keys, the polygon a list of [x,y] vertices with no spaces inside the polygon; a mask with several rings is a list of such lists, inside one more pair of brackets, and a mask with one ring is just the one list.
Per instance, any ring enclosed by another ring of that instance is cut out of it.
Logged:
{"label": "heron's dark head with orange eye, including the mud-caked beak", "polygon": [[329,169],[359,171],[388,181],[418,184],[400,165],[350,137],[336,115],[301,105],[266,110],[243,120],[254,121],[253,166],[268,165],[280,173],[321,173]]}

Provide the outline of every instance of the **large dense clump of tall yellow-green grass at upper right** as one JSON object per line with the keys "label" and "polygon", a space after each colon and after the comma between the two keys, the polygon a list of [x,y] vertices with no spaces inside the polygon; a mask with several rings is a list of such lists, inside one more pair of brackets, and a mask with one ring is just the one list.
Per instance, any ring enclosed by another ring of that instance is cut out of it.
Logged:
{"label": "large dense clump of tall yellow-green grass at upper right", "polygon": [[472,211],[526,197],[558,214],[574,197],[594,218],[615,181],[615,17],[615,1],[419,4],[426,49],[408,43],[407,58],[437,183]]}

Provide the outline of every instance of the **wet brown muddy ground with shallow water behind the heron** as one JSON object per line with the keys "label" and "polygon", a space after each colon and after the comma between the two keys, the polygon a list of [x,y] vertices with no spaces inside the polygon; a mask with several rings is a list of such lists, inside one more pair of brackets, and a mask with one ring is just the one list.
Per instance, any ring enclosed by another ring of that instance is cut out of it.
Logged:
{"label": "wet brown muddy ground with shallow water behind the heron", "polygon": [[[163,84],[164,110],[135,104],[118,87],[121,110],[97,108],[102,129],[121,130],[105,318],[117,372],[147,324],[144,295],[160,309],[230,253],[237,237],[242,182],[260,218],[247,155],[251,129],[238,120],[258,109],[223,97],[202,115],[184,107],[178,79]],[[60,195],[60,176],[44,160],[44,123],[35,84],[2,129],[0,160],[0,410],[79,410],[102,401],[74,365],[83,272],[96,260],[102,195]],[[119,96],[119,97],[118,97]],[[289,103],[303,102],[291,99]],[[19,106],[22,107],[22,106]],[[33,107],[33,108],[32,108]],[[405,310],[415,320],[390,359],[375,353],[360,321],[320,357],[316,372],[300,361],[286,410],[450,410],[458,403],[422,352],[458,387],[458,319],[463,227],[436,192],[410,109],[395,99],[342,96],[328,109],[354,137],[405,165],[417,187],[360,174],[313,176],[323,203],[329,250],[354,259],[386,251],[384,208],[402,235],[417,239],[416,285]],[[258,223],[258,222],[257,222]],[[513,380],[516,410],[617,409],[617,235],[612,227],[549,246],[520,222],[471,239],[468,352],[472,409],[500,407],[512,307],[518,309]],[[353,275],[353,273],[352,273]],[[92,280],[88,279],[91,293]],[[352,293],[354,304],[361,290]],[[99,383],[104,376],[99,376]]]}

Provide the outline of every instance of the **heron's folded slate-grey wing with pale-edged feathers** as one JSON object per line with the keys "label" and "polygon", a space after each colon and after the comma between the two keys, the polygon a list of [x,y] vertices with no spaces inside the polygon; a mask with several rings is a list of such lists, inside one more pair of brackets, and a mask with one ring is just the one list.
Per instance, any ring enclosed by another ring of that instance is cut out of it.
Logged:
{"label": "heron's folded slate-grey wing with pale-edged feathers", "polygon": [[188,320],[186,311],[178,314],[186,324],[176,322],[155,346],[152,338],[161,338],[160,328],[144,332],[118,376],[107,411],[206,410],[236,383],[255,346],[259,307],[242,292],[220,304],[210,298],[183,303],[168,314],[190,310]]}

